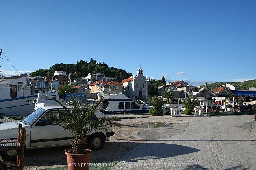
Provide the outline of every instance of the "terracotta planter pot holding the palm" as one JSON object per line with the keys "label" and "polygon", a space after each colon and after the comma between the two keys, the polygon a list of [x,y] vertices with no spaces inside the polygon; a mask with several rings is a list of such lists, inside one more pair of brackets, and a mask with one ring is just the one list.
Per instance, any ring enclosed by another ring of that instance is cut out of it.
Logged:
{"label": "terracotta planter pot holding the palm", "polygon": [[88,154],[69,154],[67,153],[68,150],[65,150],[68,170],[89,170],[90,159],[93,151],[86,149],[89,152]]}

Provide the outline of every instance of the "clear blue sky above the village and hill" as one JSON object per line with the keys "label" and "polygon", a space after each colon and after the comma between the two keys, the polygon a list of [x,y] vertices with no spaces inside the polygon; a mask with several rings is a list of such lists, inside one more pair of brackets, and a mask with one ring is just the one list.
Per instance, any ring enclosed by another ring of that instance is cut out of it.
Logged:
{"label": "clear blue sky above the village and hill", "polygon": [[0,46],[5,76],[93,58],[167,82],[241,82],[256,79],[256,0],[0,0]]}

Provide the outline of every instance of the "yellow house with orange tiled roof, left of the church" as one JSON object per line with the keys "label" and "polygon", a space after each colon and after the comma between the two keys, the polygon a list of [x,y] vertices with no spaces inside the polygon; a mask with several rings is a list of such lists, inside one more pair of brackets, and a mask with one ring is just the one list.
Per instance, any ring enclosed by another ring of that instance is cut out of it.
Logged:
{"label": "yellow house with orange tiled roof, left of the church", "polygon": [[115,81],[106,82],[104,80],[89,84],[89,88],[91,92],[90,98],[97,98],[98,93],[118,94],[123,91],[122,83]]}

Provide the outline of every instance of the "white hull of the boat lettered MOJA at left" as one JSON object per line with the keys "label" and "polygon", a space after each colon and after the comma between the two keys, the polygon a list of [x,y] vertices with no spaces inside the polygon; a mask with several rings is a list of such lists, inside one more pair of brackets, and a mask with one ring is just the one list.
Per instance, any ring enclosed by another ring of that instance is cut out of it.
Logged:
{"label": "white hull of the boat lettered MOJA at left", "polygon": [[37,95],[29,95],[26,97],[19,97],[15,99],[0,100],[0,113],[4,113],[5,117],[10,116],[28,116],[34,111],[35,104],[33,99]]}

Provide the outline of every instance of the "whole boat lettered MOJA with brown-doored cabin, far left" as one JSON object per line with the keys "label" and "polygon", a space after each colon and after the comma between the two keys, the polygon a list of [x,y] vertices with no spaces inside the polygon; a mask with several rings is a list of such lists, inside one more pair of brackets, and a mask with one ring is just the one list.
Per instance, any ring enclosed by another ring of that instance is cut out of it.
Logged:
{"label": "whole boat lettered MOJA with brown-doored cabin, far left", "polygon": [[5,77],[0,75],[0,113],[4,116],[28,116],[34,110],[31,87],[27,86],[28,76]]}

